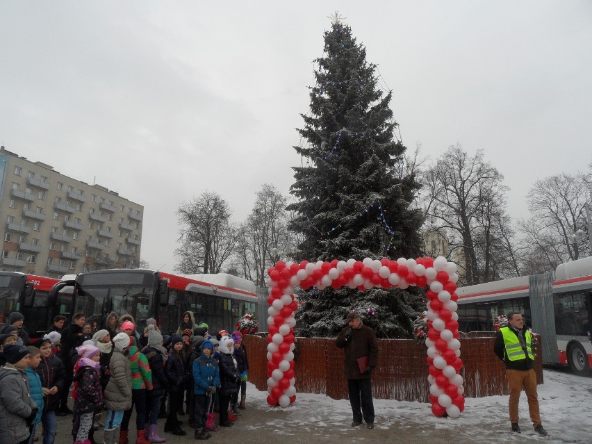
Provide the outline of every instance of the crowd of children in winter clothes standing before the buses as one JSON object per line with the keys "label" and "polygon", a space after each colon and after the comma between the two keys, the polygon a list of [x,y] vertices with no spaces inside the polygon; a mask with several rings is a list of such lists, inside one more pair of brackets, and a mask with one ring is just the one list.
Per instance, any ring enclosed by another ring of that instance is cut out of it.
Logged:
{"label": "crowd of children in winter clothes standing before the buses", "polygon": [[[10,320],[13,315],[22,316],[11,313]],[[78,328],[63,329],[63,321],[56,317],[47,333],[28,347],[13,339],[19,338],[18,331],[10,331],[10,338],[0,335],[0,436],[8,438],[3,444],[33,444],[39,423],[43,444],[54,444],[56,414],[67,413],[73,413],[75,444],[95,444],[99,425],[104,426],[105,444],[127,444],[134,407],[136,444],[163,443],[157,420],[167,399],[165,432],[186,435],[178,418],[185,413],[185,400],[195,438],[208,439],[219,429],[215,411],[219,425],[229,427],[245,409],[248,360],[239,331],[210,336],[207,324],[196,324],[191,312],[183,313],[171,336],[163,336],[154,319],[147,320],[140,334],[131,315],[118,317],[115,312],[92,336],[92,329],[83,332],[83,313],[73,317]],[[69,411],[63,400],[67,402],[72,383],[74,411]]]}

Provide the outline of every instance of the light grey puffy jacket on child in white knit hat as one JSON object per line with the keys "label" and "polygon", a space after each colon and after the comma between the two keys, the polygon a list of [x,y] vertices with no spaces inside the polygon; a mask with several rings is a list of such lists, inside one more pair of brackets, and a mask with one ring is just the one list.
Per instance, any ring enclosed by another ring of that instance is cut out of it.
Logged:
{"label": "light grey puffy jacket on child in white knit hat", "polygon": [[105,388],[105,404],[113,411],[125,411],[131,408],[131,368],[127,352],[113,350],[109,364],[111,378]]}

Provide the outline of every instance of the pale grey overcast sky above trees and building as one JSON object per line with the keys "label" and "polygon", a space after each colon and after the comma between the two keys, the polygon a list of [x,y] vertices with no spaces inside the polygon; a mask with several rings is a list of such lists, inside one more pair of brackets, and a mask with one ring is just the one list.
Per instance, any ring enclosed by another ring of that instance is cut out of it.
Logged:
{"label": "pale grey overcast sky above trees and building", "polygon": [[393,90],[405,145],[483,149],[525,217],[536,179],[592,161],[590,1],[2,1],[0,143],[145,206],[175,265],[181,202],[244,220],[288,193],[313,60],[339,10]]}

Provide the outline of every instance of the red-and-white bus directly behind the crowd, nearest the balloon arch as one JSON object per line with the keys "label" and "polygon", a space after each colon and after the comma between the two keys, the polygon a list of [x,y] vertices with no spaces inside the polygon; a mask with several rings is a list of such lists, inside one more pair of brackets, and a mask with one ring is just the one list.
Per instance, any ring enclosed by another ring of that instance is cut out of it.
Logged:
{"label": "red-and-white bus directly behind the crowd, nearest the balloon arch", "polygon": [[85,313],[104,326],[111,311],[129,313],[141,333],[148,318],[170,334],[179,327],[183,312],[195,313],[211,332],[233,329],[245,313],[256,313],[258,296],[252,281],[230,274],[175,275],[142,269],[85,272],[63,278],[54,291],[74,286],[73,313]]}

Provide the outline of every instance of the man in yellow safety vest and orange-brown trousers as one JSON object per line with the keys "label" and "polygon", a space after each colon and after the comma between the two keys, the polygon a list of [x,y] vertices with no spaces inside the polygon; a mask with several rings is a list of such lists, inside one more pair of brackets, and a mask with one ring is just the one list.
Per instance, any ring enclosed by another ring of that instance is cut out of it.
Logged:
{"label": "man in yellow safety vest and orange-brown trousers", "polygon": [[548,436],[547,431],[543,429],[538,409],[536,373],[532,368],[534,363],[532,336],[530,331],[524,328],[524,320],[520,313],[516,311],[508,313],[508,326],[502,327],[495,333],[493,352],[506,364],[506,376],[510,388],[508,406],[512,431],[520,433],[518,401],[520,400],[520,392],[524,389],[534,431],[541,436]]}

